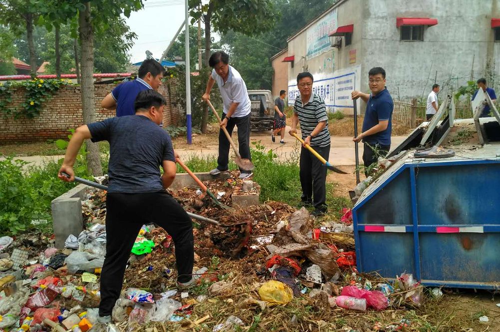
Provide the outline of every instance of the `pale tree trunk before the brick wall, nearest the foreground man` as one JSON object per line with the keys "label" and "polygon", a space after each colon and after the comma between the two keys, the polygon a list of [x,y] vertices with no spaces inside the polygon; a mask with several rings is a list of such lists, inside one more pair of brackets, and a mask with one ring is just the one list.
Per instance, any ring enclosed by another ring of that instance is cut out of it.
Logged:
{"label": "pale tree trunk before the brick wall, nearest the foreground man", "polygon": [[[81,42],[81,112],[84,123],[95,122],[95,95],[93,87],[93,31],[90,21],[90,2],[78,14]],[[93,176],[102,175],[99,145],[86,140],[87,169]]]}

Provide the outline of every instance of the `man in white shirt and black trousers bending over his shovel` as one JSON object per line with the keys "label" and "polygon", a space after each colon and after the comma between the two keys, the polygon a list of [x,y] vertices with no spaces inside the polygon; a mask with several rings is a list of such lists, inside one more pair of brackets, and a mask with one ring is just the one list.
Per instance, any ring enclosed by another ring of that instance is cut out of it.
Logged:
{"label": "man in white shirt and black trousers bending over his shovel", "polygon": [[[242,158],[250,156],[250,98],[246,91],[246,84],[239,72],[229,65],[229,55],[223,51],[217,51],[210,56],[208,64],[213,68],[208,78],[206,90],[201,97],[204,101],[210,99],[210,91],[213,84],[217,82],[222,102],[224,104],[222,124],[229,134],[232,134],[234,126],[238,127],[238,151]],[[216,175],[229,169],[229,141],[222,128],[219,131],[219,148],[217,167],[210,170],[210,174]],[[240,169],[239,178],[247,178],[252,172]]]}

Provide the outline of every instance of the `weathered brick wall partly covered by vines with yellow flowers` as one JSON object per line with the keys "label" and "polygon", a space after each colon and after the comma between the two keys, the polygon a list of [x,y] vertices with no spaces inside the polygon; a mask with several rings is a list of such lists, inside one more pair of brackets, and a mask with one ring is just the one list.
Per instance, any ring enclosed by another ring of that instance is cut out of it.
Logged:
{"label": "weathered brick wall partly covered by vines with yellow flowers", "polygon": [[[159,88],[167,101],[163,112],[163,126],[179,125],[183,119],[181,110],[170,102],[170,94],[175,88],[173,84],[164,83]],[[100,107],[102,98],[115,86],[116,84],[94,85],[95,117],[98,121],[115,115],[114,110]],[[80,86],[63,86],[52,98],[43,102],[43,109],[38,117],[14,119],[12,116],[0,116],[0,144],[67,138],[68,129],[83,124],[80,95]],[[7,108],[18,108],[24,100],[24,89],[19,88],[12,92],[12,102],[7,104]]]}

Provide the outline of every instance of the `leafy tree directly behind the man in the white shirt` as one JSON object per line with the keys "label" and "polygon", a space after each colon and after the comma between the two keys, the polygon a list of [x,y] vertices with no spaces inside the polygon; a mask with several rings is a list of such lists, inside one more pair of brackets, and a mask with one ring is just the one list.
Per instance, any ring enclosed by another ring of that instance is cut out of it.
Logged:
{"label": "leafy tree directly behind the man in the white shirt", "polygon": [[[256,34],[270,29],[274,24],[274,6],[271,0],[188,0],[191,24],[202,18],[205,24],[205,66],[210,58],[211,28],[220,33],[229,30],[243,34]],[[205,107],[201,132],[206,132],[208,106]]]}

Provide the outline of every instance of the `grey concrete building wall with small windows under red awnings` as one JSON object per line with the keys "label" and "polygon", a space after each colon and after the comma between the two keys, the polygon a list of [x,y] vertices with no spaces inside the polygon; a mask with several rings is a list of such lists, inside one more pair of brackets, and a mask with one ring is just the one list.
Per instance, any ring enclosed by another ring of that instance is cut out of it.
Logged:
{"label": "grey concrete building wall with small windows under red awnings", "polygon": [[[361,75],[367,90],[368,70],[382,66],[393,99],[425,97],[434,83],[441,93],[470,79],[486,76],[486,62],[500,63],[500,42],[494,42],[491,18],[500,17],[500,0],[366,0],[363,1]],[[401,41],[396,17],[436,18],[424,28],[423,41]],[[429,76],[430,78],[427,81]],[[366,79],[365,79],[366,78]],[[498,79],[497,79],[498,81]]]}

